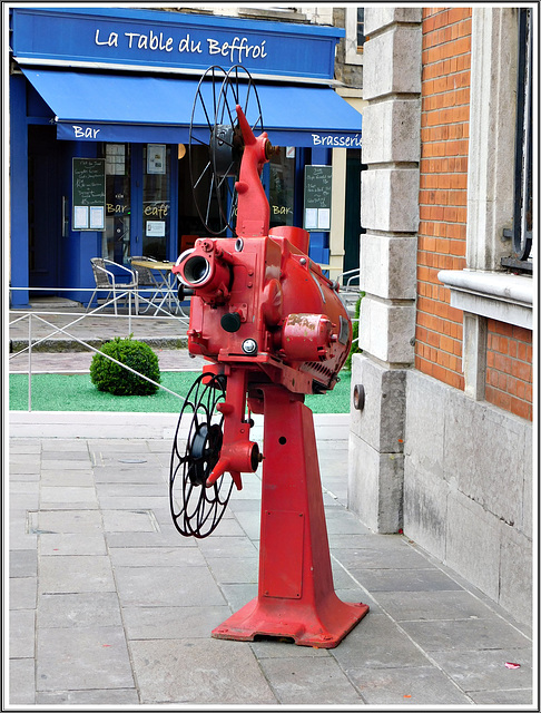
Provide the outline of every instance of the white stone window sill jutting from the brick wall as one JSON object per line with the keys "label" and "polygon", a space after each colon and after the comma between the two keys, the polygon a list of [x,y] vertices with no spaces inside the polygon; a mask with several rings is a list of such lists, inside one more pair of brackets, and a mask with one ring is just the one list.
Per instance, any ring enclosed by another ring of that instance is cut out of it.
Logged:
{"label": "white stone window sill jutting from the brick wall", "polygon": [[451,290],[452,307],[532,329],[531,277],[501,272],[442,270],[437,279]]}

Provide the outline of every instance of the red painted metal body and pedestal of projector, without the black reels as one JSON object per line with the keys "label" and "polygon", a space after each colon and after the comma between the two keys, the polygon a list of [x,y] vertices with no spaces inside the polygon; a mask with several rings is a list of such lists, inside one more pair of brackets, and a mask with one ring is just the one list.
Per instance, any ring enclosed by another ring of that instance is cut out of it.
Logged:
{"label": "red painted metal body and pedestal of projector, without the black reels", "polygon": [[237,107],[245,148],[237,235],[199,238],[175,272],[194,290],[188,348],[227,377],[224,439],[208,485],[260,460],[249,438],[246,406],[264,413],[259,592],[213,635],[239,641],[288,636],[333,647],[366,614],[333,588],[328,541],[307,393],[332,389],[347,356],[352,329],[337,286],[307,256],[309,235],[268,229],[259,175],[268,159],[266,134],[254,137]]}

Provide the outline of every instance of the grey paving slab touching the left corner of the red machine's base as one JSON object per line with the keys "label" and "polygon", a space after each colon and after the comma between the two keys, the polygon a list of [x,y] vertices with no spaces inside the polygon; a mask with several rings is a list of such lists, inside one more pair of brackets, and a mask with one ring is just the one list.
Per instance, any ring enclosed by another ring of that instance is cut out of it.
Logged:
{"label": "grey paving slab touching the left corner of the red machine's base", "polygon": [[128,639],[208,638],[230,616],[224,605],[127,606],[122,617]]}

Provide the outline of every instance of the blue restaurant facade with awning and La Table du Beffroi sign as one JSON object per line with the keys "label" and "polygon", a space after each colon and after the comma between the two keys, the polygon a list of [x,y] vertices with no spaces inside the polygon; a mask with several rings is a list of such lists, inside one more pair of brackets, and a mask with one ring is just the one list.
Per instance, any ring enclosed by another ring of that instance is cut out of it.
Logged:
{"label": "blue restaurant facade with awning and La Table du Beffroi sign", "polygon": [[[11,9],[10,33],[14,307],[59,287],[86,303],[91,257],[176,260],[205,235],[186,146],[210,66],[240,66],[257,87],[279,147],[263,175],[272,225],[306,225],[305,167],[361,146],[361,114],[332,88],[340,28],[37,6]],[[311,257],[327,263],[326,218],[306,227]]]}

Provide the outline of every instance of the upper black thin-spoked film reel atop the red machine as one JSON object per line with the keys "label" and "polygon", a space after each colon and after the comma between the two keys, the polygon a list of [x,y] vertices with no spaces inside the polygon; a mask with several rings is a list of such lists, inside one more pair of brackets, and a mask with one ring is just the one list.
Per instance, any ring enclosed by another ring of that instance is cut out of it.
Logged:
{"label": "upper black thin-spoked film reel atop the red machine", "polygon": [[220,67],[209,67],[194,99],[188,159],[194,203],[212,235],[225,235],[227,231],[235,235],[235,180],[244,150],[237,104],[254,134],[262,133],[262,109],[252,75],[238,65],[227,72]]}

